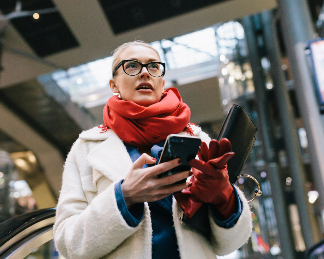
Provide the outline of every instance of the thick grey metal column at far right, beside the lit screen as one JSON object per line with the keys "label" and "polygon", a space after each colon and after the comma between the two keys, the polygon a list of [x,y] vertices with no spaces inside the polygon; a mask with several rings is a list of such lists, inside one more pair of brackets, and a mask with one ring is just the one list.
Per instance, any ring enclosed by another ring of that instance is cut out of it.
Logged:
{"label": "thick grey metal column at far right, beside the lit screen", "polygon": [[278,11],[294,79],[297,102],[307,132],[314,184],[320,194],[320,210],[323,211],[324,126],[305,54],[307,42],[315,39],[317,35],[313,28],[310,11],[305,0],[278,0]]}

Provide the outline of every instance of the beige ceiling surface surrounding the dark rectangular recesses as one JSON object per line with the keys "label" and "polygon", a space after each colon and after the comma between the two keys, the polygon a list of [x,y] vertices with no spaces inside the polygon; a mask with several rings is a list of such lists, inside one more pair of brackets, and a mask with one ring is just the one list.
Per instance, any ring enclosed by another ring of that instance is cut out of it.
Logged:
{"label": "beige ceiling surface surrounding the dark rectangular recesses", "polygon": [[[129,0],[127,3],[131,5],[132,3],[138,3],[138,1]],[[160,2],[165,3],[165,5],[171,5],[170,1]],[[16,1],[1,0],[0,5],[3,5],[3,3],[8,5],[10,2]],[[25,2],[23,1],[23,4]],[[35,0],[35,2],[39,3],[43,1]],[[47,0],[44,2],[46,3]],[[107,5],[108,2],[114,6],[117,1],[107,0],[105,4]],[[173,2],[179,2],[179,0],[173,0]],[[201,2],[206,4],[205,1],[196,2],[198,3],[192,2],[191,4],[196,5]],[[52,0],[52,3],[59,10],[67,27],[73,32],[73,35],[79,42],[79,46],[65,51],[58,51],[46,56],[45,59],[36,59],[34,57],[34,51],[32,51],[27,41],[21,36],[13,24],[10,23],[4,31],[4,37],[1,38],[1,40],[4,40],[4,48],[1,56],[3,70],[0,74],[0,88],[33,79],[40,74],[49,73],[58,67],[68,68],[107,57],[117,46],[135,38],[141,38],[146,42],[170,39],[221,21],[238,19],[265,9],[275,8],[277,5],[276,0],[218,1],[216,4],[210,4],[192,11],[187,11],[186,13],[163,18],[163,20],[156,17],[151,24],[115,34],[106,17],[104,8],[98,0]],[[125,1],[121,3],[125,3]],[[147,4],[148,2],[145,3]],[[186,4],[182,0],[180,3],[181,5]],[[13,6],[12,4],[11,8]],[[149,8],[149,3],[145,7]],[[24,10],[24,8],[23,5],[22,9]],[[121,17],[122,14],[123,10],[116,12],[115,15]],[[127,19],[123,23],[128,23]],[[62,34],[63,41],[65,40],[64,37],[64,34]]]}

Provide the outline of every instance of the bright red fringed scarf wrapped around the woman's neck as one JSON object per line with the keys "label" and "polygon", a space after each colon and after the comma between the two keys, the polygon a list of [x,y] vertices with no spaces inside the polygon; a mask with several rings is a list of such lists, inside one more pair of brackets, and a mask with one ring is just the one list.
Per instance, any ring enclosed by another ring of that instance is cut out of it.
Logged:
{"label": "bright red fringed scarf wrapped around the woman's neck", "polygon": [[112,129],[122,141],[143,150],[184,130],[189,120],[190,108],[182,102],[178,89],[171,87],[149,107],[110,97],[103,109],[105,125],[101,128]]}

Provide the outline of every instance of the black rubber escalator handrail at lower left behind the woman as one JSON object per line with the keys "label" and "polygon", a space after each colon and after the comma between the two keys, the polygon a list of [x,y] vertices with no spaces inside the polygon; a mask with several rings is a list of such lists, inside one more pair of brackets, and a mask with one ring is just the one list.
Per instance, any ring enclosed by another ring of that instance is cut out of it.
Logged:
{"label": "black rubber escalator handrail at lower left behind the woman", "polygon": [[38,209],[21,214],[0,224],[0,247],[28,227],[55,216],[55,208]]}

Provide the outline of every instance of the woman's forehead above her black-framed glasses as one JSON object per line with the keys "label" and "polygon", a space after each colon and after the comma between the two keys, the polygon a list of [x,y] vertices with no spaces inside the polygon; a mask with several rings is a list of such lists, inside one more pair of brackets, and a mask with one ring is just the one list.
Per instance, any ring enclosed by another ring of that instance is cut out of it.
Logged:
{"label": "woman's forehead above her black-framed glasses", "polygon": [[159,55],[156,53],[156,51],[152,50],[149,47],[141,45],[134,45],[125,48],[121,51],[118,59],[135,59],[142,63],[150,61],[160,61]]}

